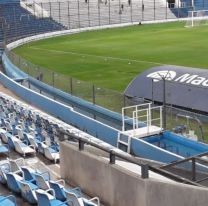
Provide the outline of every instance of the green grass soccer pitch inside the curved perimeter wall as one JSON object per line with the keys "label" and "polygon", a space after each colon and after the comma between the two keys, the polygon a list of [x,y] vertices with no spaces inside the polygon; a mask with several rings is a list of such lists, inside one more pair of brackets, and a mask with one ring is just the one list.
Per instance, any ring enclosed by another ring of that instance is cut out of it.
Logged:
{"label": "green grass soccer pitch inside the curved perimeter wall", "polygon": [[30,62],[123,91],[142,71],[171,64],[208,68],[208,27],[137,25],[50,38],[16,48]]}

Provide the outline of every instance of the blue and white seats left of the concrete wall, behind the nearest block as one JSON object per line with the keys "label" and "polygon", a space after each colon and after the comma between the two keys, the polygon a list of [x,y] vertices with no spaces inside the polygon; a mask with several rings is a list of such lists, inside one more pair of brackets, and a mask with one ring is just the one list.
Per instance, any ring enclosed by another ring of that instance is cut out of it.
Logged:
{"label": "blue and white seats left of the concrete wall, behind the nearest block", "polygon": [[[0,99],[0,135],[2,142],[24,157],[42,153],[49,160],[59,160],[59,145],[55,141],[52,126],[39,115],[26,110],[21,105]],[[4,146],[5,147],[5,146]],[[0,147],[1,151],[1,147]]]}

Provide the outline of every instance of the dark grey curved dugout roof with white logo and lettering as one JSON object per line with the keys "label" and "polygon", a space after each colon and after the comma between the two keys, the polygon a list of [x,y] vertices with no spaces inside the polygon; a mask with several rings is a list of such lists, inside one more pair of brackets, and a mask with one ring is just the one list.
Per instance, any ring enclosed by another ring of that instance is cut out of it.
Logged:
{"label": "dark grey curved dugout roof with white logo and lettering", "polygon": [[158,66],[144,71],[126,88],[125,95],[163,102],[164,81],[168,104],[208,112],[208,70]]}

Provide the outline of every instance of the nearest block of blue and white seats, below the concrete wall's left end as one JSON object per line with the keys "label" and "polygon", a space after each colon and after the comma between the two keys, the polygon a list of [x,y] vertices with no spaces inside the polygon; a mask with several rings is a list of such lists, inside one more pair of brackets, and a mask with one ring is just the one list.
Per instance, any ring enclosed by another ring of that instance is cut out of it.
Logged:
{"label": "nearest block of blue and white seats, below the concrete wall's left end", "polygon": [[12,192],[21,194],[30,204],[38,206],[100,205],[98,197],[84,198],[79,187],[66,188],[64,180],[52,180],[48,171],[26,166],[23,158],[8,159],[0,164],[0,183],[7,185]]}

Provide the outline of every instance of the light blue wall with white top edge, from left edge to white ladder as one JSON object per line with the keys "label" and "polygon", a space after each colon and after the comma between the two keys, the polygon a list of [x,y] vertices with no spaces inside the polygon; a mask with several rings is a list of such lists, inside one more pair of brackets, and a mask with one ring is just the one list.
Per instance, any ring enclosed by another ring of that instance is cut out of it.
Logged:
{"label": "light blue wall with white top edge, from left edge to white ladder", "polygon": [[[10,64],[5,63],[5,59],[3,59],[3,64],[4,67],[11,66]],[[31,105],[37,106],[43,111],[54,115],[66,123],[71,124],[113,146],[117,145],[118,130],[97,120],[82,115],[74,111],[72,107],[66,106],[42,94],[32,91],[20,85],[13,79],[10,79],[3,73],[0,74],[0,81],[4,86],[6,86],[8,89],[13,91],[15,94],[17,94],[19,97]]]}

